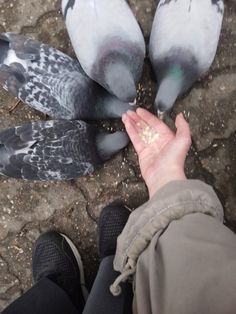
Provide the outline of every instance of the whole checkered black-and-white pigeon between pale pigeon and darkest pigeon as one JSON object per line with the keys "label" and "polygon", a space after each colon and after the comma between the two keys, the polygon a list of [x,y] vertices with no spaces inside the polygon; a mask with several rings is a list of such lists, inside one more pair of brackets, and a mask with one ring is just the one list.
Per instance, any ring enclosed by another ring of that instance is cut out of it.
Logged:
{"label": "whole checkered black-and-white pigeon between pale pigeon and darkest pigeon", "polygon": [[91,80],[77,60],[13,33],[0,34],[0,83],[52,119],[118,118],[132,110]]}

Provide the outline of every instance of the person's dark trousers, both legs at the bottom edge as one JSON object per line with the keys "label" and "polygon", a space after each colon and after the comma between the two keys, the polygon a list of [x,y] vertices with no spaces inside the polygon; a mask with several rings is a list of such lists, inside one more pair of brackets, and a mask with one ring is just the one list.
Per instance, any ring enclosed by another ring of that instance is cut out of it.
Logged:
{"label": "person's dark trousers, both legs at the bottom edge", "polygon": [[[114,256],[103,259],[84,314],[132,313],[132,286],[121,285],[121,295],[114,297],[110,285],[119,273],[113,269]],[[10,304],[1,314],[80,314],[67,294],[51,280],[44,278],[20,298]]]}

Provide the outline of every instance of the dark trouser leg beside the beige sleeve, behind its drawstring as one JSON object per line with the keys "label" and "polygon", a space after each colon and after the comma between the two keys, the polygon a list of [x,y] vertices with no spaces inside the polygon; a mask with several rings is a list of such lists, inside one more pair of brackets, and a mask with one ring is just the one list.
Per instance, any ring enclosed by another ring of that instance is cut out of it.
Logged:
{"label": "dark trouser leg beside the beige sleeve, behind its drawstring", "polygon": [[121,284],[122,293],[117,297],[110,292],[110,285],[119,276],[113,269],[113,259],[114,256],[108,256],[102,260],[83,314],[132,313],[131,284]]}

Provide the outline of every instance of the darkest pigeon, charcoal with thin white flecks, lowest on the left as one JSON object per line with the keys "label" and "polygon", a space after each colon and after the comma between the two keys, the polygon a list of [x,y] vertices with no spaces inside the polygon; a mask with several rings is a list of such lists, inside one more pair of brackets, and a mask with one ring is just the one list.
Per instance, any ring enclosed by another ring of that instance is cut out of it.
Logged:
{"label": "darkest pigeon, charcoal with thin white flecks, lowest on the left", "polygon": [[83,121],[31,122],[0,133],[0,174],[61,181],[91,174],[129,142]]}

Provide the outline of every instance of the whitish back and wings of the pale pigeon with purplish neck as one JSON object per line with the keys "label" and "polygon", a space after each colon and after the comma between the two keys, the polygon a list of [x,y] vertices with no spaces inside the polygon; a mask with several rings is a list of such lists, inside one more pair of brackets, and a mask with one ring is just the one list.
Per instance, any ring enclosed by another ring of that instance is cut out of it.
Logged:
{"label": "whitish back and wings of the pale pigeon with purplish neck", "polygon": [[145,50],[141,30],[124,0],[63,0],[62,10],[75,53],[89,76],[104,41],[123,39]]}

